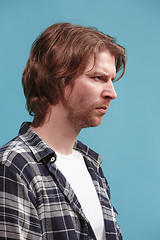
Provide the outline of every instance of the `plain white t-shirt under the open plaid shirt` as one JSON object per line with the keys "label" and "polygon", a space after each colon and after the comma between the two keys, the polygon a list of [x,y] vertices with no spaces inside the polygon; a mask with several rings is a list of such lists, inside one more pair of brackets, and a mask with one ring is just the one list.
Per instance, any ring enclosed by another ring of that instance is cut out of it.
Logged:
{"label": "plain white t-shirt under the open plaid shirt", "polygon": [[71,155],[56,154],[56,165],[75,192],[97,240],[105,240],[102,208],[83,156],[76,150]]}

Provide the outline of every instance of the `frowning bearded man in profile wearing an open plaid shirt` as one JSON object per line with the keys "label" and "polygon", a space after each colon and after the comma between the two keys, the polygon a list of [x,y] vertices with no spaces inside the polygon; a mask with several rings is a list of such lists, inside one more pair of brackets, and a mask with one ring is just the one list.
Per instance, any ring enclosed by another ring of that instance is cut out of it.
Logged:
{"label": "frowning bearded man in profile wearing an open plaid shirt", "polygon": [[22,76],[34,116],[0,150],[0,239],[122,239],[100,156],[76,140],[98,126],[125,50],[93,28],[59,23],[33,43]]}

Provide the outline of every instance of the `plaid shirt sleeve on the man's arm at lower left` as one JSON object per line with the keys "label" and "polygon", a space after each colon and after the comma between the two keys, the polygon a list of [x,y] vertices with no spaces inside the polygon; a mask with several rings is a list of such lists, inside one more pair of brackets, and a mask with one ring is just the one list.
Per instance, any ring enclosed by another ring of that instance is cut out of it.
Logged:
{"label": "plaid shirt sleeve on the man's arm at lower left", "polygon": [[0,165],[0,239],[42,239],[34,195],[21,176],[5,165]]}

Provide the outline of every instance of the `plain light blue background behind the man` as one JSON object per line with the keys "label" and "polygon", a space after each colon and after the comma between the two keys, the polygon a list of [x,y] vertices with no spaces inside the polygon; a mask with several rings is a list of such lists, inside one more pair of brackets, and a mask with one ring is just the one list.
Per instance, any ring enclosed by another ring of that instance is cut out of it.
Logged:
{"label": "plain light blue background behind the man", "polygon": [[103,157],[124,239],[159,240],[160,1],[0,0],[0,145],[31,120],[21,75],[32,42],[59,21],[95,26],[126,47],[118,98],[102,125],[79,139]]}

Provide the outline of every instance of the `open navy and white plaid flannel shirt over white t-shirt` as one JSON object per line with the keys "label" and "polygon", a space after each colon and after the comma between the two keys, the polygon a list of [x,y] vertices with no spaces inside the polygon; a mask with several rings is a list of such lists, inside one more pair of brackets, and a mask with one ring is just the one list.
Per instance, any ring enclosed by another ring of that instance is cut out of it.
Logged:
{"label": "open navy and white plaid flannel shirt over white t-shirt", "polygon": [[[76,141],[96,188],[107,240],[121,240],[100,156]],[[95,240],[71,186],[55,164],[56,154],[28,126],[0,148],[0,239]],[[83,175],[82,175],[83,176]]]}

